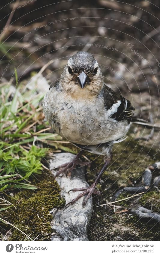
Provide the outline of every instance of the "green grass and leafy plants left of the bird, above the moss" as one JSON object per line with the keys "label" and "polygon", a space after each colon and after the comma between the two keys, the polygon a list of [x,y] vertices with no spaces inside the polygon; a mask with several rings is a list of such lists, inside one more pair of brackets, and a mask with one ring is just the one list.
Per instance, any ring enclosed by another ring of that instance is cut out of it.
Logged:
{"label": "green grass and leafy plants left of the bird, above the moss", "polygon": [[[18,86],[17,72],[15,70]],[[0,85],[0,196],[16,189],[36,189],[30,177],[41,174],[51,146],[58,149],[57,134],[45,133],[43,93],[19,85],[14,93],[10,84]],[[47,141],[49,139],[49,141]],[[7,206],[8,207],[8,206]],[[5,210],[1,207],[0,210]]]}

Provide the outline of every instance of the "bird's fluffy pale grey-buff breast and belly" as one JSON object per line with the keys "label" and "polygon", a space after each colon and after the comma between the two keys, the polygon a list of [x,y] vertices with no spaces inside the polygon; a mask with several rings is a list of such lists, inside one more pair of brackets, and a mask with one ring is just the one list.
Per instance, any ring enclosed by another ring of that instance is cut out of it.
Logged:
{"label": "bird's fluffy pale grey-buff breast and belly", "polygon": [[126,121],[115,122],[109,118],[102,98],[74,101],[61,94],[54,93],[53,100],[50,99],[52,94],[46,96],[44,114],[56,133],[66,140],[97,145],[124,136]]}

